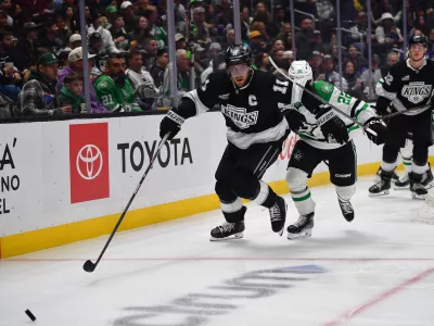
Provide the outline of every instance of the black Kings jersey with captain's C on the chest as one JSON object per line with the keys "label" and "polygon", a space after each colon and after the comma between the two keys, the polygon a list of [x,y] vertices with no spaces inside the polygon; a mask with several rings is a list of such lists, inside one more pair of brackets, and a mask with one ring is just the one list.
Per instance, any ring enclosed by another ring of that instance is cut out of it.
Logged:
{"label": "black Kings jersey with captain's C on the chest", "polygon": [[[228,140],[246,149],[253,143],[277,141],[289,134],[282,111],[291,105],[292,86],[290,80],[279,80],[271,73],[254,71],[250,83],[237,88],[226,71],[216,71],[201,87],[184,95],[194,102],[194,112],[188,112],[190,109],[182,102],[177,113],[189,117],[219,105],[228,127]],[[308,108],[321,104],[308,93],[302,101]]]}

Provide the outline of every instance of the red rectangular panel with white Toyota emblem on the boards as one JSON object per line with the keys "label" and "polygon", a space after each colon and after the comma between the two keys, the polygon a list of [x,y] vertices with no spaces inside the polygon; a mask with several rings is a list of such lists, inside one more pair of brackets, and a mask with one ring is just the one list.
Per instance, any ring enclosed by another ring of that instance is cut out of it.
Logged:
{"label": "red rectangular panel with white Toyota emblem on the boards", "polygon": [[71,203],[110,197],[108,125],[69,125]]}

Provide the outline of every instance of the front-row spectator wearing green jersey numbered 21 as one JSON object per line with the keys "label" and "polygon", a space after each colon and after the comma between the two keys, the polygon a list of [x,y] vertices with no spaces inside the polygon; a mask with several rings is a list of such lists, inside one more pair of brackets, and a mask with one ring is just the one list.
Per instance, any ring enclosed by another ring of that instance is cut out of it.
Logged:
{"label": "front-row spectator wearing green jersey numbered 21", "polygon": [[97,99],[111,112],[141,111],[136,92],[125,71],[127,64],[120,54],[111,54],[105,71],[93,83]]}

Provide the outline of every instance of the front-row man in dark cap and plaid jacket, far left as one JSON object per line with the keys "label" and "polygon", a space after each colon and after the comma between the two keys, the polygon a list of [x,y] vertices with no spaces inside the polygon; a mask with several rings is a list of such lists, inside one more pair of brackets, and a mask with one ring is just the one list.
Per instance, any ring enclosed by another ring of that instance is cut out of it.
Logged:
{"label": "front-row man in dark cap and plaid jacket, far left", "polygon": [[41,55],[29,80],[24,85],[21,95],[21,109],[24,115],[47,116],[71,113],[71,106],[59,108],[55,96],[58,77],[58,59],[51,52]]}

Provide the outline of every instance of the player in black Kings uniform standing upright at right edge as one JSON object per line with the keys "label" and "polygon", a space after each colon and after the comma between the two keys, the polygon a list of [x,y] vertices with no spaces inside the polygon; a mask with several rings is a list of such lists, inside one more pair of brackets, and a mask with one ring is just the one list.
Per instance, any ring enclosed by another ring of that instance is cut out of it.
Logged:
{"label": "player in black Kings uniform standing upright at right edge", "polygon": [[427,170],[429,147],[433,143],[431,114],[434,62],[425,59],[426,43],[425,36],[412,36],[408,58],[393,65],[384,82],[376,87],[376,112],[384,115],[399,111],[403,114],[388,121],[381,179],[369,188],[370,196],[388,193],[398,152],[405,146],[408,133],[412,134],[413,140],[410,191],[413,198],[423,198],[427,193],[422,177]]}

